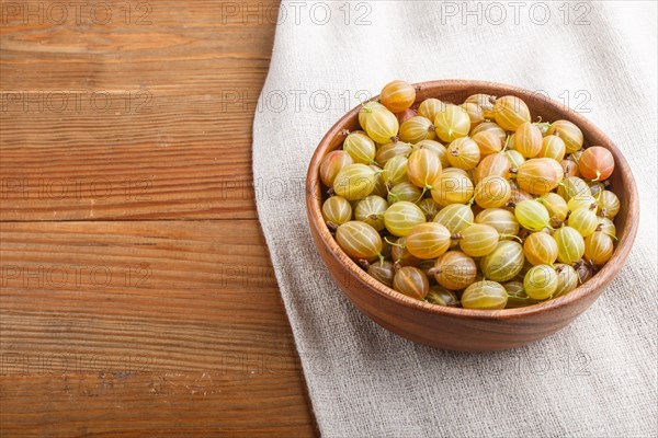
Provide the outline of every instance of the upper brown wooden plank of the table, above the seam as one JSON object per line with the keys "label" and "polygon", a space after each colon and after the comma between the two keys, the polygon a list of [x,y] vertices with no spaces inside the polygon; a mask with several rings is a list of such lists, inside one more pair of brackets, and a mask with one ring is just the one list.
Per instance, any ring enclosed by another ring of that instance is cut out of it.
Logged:
{"label": "upper brown wooden plank of the table, above the seam", "polygon": [[0,219],[256,218],[277,2],[66,4],[2,2]]}

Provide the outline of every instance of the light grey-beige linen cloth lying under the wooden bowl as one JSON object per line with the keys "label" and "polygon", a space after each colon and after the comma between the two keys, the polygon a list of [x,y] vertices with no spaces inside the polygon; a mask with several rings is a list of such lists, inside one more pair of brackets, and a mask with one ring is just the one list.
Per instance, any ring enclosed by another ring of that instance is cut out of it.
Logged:
{"label": "light grey-beige linen cloth lying under the wooden bowl", "polygon": [[[656,3],[282,3],[253,174],[321,434],[657,436]],[[621,148],[640,193],[638,239],[612,286],[568,327],[510,351],[443,351],[379,327],[334,285],[308,231],[307,165],[354,95],[394,79],[541,91]]]}

